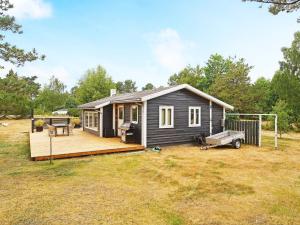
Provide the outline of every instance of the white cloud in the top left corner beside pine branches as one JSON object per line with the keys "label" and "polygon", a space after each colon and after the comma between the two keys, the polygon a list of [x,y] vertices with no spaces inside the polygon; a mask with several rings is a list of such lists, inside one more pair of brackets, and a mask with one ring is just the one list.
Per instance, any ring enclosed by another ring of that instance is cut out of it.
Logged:
{"label": "white cloud in the top left corner beside pine branches", "polygon": [[18,19],[42,19],[52,15],[52,6],[45,0],[11,0],[14,7],[8,14]]}

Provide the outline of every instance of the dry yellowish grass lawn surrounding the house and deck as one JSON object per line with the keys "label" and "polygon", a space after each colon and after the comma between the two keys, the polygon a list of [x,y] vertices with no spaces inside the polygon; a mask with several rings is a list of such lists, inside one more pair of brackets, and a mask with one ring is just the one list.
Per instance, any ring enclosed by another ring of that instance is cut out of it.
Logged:
{"label": "dry yellowish grass lawn surrounding the house and deck", "polygon": [[30,121],[0,127],[0,224],[300,224],[300,135],[33,162]]}

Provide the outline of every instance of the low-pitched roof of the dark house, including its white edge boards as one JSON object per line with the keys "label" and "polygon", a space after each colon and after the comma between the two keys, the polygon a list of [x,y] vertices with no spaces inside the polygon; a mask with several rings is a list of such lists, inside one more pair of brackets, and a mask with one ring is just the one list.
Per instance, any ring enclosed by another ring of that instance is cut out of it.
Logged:
{"label": "low-pitched roof of the dark house, including its white edge boards", "polygon": [[231,110],[234,109],[233,106],[231,106],[211,95],[208,95],[188,84],[180,84],[180,85],[170,86],[170,87],[160,87],[160,88],[157,88],[154,90],[138,91],[138,92],[133,92],[133,93],[113,95],[110,97],[102,98],[102,99],[99,99],[99,100],[96,100],[93,102],[89,102],[89,103],[80,105],[79,108],[81,108],[81,109],[97,109],[97,108],[101,108],[101,107],[104,107],[106,105],[113,104],[113,103],[144,102],[144,101],[148,101],[150,99],[157,98],[159,96],[166,95],[166,94],[169,94],[174,91],[181,90],[181,89],[187,89],[187,90],[195,93],[196,95],[206,98],[206,99],[208,99],[218,105],[221,105],[227,109],[231,109]]}

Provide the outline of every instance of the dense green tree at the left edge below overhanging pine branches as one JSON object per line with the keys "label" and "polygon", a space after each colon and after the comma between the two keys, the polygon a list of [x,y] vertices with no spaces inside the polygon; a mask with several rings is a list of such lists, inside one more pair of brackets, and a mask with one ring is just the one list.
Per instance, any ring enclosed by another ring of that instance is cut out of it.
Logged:
{"label": "dense green tree at the left edge below overhanging pine branches", "polygon": [[40,88],[36,78],[21,77],[12,70],[0,78],[0,114],[29,115]]}

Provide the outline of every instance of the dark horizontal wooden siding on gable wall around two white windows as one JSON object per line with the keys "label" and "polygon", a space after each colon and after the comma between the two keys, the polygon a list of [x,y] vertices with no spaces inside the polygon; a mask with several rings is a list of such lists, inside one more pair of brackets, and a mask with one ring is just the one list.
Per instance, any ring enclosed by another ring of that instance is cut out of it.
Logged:
{"label": "dark horizontal wooden siding on gable wall around two white windows", "polygon": [[[159,106],[174,106],[174,128],[159,128]],[[201,126],[189,127],[189,106],[201,107]],[[209,135],[209,101],[188,90],[166,94],[147,103],[147,146],[190,142],[195,135]]]}

